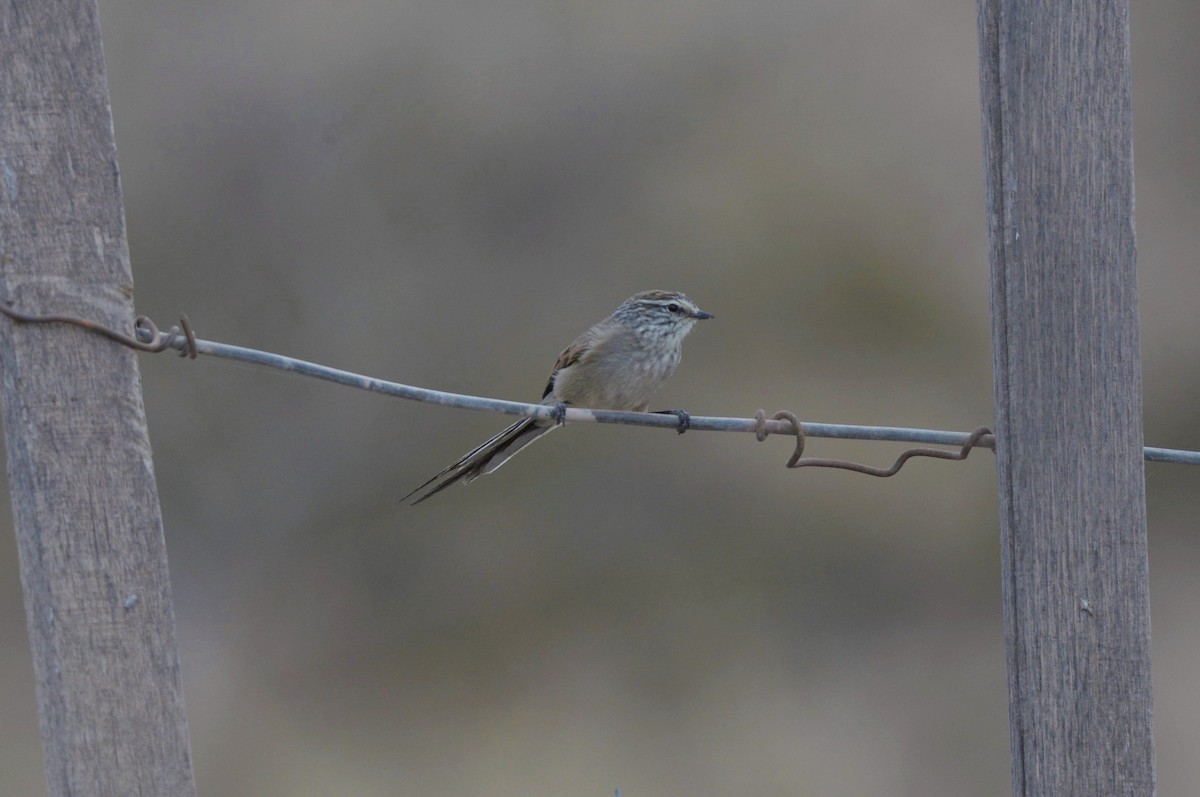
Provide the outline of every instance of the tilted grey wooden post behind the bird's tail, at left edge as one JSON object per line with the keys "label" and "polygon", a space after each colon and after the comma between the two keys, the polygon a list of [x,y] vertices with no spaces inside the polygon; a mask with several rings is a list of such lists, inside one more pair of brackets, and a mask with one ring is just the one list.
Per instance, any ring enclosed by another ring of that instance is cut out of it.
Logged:
{"label": "tilted grey wooden post behind the bird's tail, at left edge", "polygon": [[[96,0],[0,6],[0,300],[132,328]],[[8,480],[49,793],[196,793],[131,349],[0,319]]]}

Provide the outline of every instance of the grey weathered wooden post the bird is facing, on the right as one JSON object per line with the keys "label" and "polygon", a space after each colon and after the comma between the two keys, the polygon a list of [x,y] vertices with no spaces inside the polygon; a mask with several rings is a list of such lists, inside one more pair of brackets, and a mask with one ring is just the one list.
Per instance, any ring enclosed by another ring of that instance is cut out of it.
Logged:
{"label": "grey weathered wooden post the bird is facing, on the right", "polygon": [[1013,792],[1154,793],[1126,0],[979,0]]}

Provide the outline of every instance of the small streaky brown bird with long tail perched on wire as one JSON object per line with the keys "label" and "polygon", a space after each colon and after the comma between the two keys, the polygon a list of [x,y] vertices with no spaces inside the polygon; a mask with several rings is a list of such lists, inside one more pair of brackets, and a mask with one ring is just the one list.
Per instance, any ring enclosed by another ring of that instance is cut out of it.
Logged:
{"label": "small streaky brown bird with long tail perched on wire", "polygon": [[[558,355],[540,403],[557,407],[559,420],[522,418],[401,501],[421,493],[412,504],[415,507],[452,484],[470,484],[492,473],[527,445],[558,429],[566,407],[646,412],[650,397],[678,367],[683,338],[697,320],[708,318],[713,314],[676,290],[634,294]],[[677,415],[679,433],[686,431],[688,413],[682,409],[661,412]]]}

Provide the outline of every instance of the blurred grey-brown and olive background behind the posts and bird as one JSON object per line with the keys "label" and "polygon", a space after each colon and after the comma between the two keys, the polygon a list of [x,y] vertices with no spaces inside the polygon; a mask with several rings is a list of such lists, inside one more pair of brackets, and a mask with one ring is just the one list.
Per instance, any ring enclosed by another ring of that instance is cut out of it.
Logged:
{"label": "blurred grey-brown and olive background behind the posts and bird", "polygon": [[[990,424],[974,14],[103,0],[138,311],[533,400],[678,289],[716,320],[662,407]],[[1146,439],[1196,449],[1200,6],[1133,14]],[[508,420],[140,362],[206,797],[1009,793],[990,454],[574,426],[414,509]],[[1200,781],[1198,477],[1147,467],[1164,795]],[[0,793],[41,795],[12,539]]]}

